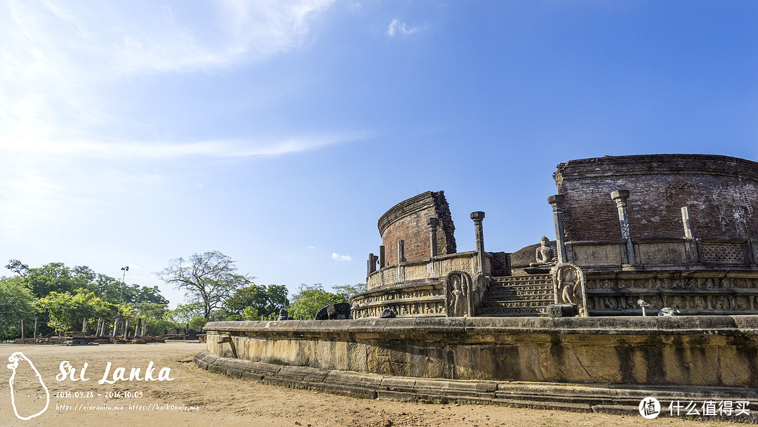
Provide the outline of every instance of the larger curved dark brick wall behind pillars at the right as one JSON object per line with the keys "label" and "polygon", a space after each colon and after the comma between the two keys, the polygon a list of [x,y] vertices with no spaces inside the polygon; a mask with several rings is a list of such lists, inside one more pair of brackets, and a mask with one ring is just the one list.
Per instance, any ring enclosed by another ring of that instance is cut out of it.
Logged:
{"label": "larger curved dark brick wall behind pillars at the right", "polygon": [[758,163],[724,155],[625,155],[572,160],[553,174],[565,196],[567,241],[621,237],[610,193],[629,190],[632,238],[684,237],[688,206],[693,236],[758,237]]}

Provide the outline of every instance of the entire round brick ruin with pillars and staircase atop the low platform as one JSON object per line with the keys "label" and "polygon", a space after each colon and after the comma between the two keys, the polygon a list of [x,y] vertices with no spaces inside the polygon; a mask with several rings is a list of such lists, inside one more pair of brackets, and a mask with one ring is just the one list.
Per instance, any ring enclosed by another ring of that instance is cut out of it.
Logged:
{"label": "entire round brick ruin with pillars and staircase atop the low platform", "polygon": [[[393,206],[354,316],[543,316],[552,303],[584,316],[638,316],[645,304],[653,315],[758,314],[758,163],[606,156],[553,177],[555,240],[514,253],[484,250],[484,212],[471,213],[477,250],[456,253],[442,191]],[[553,260],[537,262],[540,251]]]}

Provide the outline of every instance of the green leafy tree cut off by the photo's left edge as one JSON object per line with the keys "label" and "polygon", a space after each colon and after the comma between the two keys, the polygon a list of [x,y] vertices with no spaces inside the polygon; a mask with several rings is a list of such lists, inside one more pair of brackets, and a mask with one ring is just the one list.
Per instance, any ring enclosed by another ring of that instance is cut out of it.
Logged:
{"label": "green leafy tree cut off by the photo's left edge", "polygon": [[0,341],[20,335],[19,322],[34,320],[34,296],[22,277],[0,278]]}

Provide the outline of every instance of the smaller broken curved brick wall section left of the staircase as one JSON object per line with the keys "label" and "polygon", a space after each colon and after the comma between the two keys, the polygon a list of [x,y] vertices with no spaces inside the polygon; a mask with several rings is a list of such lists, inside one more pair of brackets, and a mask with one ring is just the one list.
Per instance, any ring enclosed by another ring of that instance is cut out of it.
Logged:
{"label": "smaller broken curved brick wall section left of the staircase", "polygon": [[[431,256],[428,218],[437,218],[437,255],[456,253],[456,230],[443,191],[421,193],[403,200],[379,218],[385,265],[398,262],[397,240],[405,243],[406,261]],[[383,267],[380,265],[379,267]]]}

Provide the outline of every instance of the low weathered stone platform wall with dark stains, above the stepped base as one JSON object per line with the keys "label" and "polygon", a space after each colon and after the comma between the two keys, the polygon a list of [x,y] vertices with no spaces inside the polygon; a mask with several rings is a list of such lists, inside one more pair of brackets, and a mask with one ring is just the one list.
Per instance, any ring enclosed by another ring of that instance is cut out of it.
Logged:
{"label": "low weathered stone platform wall with dark stains, above the stepped base", "polygon": [[448,380],[758,388],[758,316],[209,322],[208,353]]}

